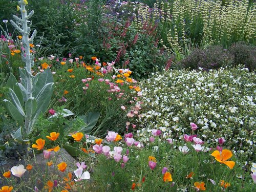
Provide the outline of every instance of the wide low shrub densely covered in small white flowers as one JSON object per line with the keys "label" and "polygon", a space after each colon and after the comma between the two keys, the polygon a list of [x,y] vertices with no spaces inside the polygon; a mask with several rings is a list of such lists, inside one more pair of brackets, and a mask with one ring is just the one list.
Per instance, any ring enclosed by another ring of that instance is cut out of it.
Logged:
{"label": "wide low shrub densely covered in small white flowers", "polygon": [[[232,150],[255,148],[255,73],[246,68],[156,73],[141,83],[140,136],[159,129],[167,137],[198,134],[204,142],[224,137]],[[190,122],[199,129],[191,132]]]}

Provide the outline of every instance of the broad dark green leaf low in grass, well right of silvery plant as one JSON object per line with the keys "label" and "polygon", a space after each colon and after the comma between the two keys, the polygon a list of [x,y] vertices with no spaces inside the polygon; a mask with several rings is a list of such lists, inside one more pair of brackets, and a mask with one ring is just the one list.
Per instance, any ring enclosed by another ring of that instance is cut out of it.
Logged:
{"label": "broad dark green leaf low in grass, well right of silvery plant", "polygon": [[93,127],[97,124],[99,116],[99,112],[90,112],[86,115],[79,116],[84,121],[84,123],[87,124],[85,127],[82,127],[80,131],[84,132],[85,134],[89,134]]}

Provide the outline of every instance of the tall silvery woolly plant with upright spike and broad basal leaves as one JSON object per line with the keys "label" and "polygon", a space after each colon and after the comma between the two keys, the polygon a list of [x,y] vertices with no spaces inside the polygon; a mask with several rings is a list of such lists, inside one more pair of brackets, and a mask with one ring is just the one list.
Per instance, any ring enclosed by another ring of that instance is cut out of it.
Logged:
{"label": "tall silvery woolly plant with upright spike and broad basal leaves", "polygon": [[13,15],[16,23],[11,20],[11,24],[22,33],[22,46],[25,51],[22,53],[22,59],[26,62],[24,69],[19,68],[20,82],[16,80],[13,74],[10,74],[7,80],[9,89],[9,100],[3,100],[6,111],[12,116],[19,125],[19,129],[12,135],[15,139],[23,140],[22,133],[25,137],[33,130],[33,125],[40,113],[44,113],[50,103],[53,93],[53,75],[48,68],[42,73],[35,76],[31,73],[31,67],[34,65],[34,56],[30,53],[30,44],[33,44],[33,38],[36,30],[30,36],[30,27],[28,19],[32,17],[34,11],[27,14],[25,9],[28,4],[27,0],[18,1],[17,10],[22,13],[22,18]]}

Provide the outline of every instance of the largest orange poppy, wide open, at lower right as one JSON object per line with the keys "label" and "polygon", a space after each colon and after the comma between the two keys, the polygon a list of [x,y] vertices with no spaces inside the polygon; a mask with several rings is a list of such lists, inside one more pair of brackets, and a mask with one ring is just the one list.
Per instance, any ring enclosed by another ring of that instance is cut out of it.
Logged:
{"label": "largest orange poppy, wide open, at lower right", "polygon": [[222,150],[221,154],[218,150],[214,151],[211,156],[214,156],[217,161],[220,163],[224,163],[227,165],[230,169],[234,167],[234,164],[236,164],[234,161],[227,161],[229,158],[232,157],[232,152],[229,150]]}

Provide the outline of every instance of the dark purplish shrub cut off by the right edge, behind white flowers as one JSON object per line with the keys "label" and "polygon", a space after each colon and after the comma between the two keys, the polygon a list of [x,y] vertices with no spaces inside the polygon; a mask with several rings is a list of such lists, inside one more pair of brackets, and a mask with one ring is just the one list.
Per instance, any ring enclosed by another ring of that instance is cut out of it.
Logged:
{"label": "dark purplish shrub cut off by the right edge, behind white flowers", "polygon": [[239,64],[245,66],[250,71],[255,70],[256,65],[256,47],[249,46],[245,42],[232,44],[229,51],[234,55],[234,66]]}

